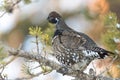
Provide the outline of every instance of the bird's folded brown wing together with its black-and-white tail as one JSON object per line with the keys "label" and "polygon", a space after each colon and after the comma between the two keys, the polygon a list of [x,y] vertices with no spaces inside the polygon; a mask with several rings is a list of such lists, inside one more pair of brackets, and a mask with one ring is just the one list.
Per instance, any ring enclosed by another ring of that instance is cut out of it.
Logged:
{"label": "bird's folded brown wing together with its black-and-white tail", "polygon": [[91,38],[83,33],[68,30],[56,31],[55,33],[53,42],[58,43],[57,46],[62,45],[66,49],[80,50],[85,56],[104,58],[112,53],[99,48]]}

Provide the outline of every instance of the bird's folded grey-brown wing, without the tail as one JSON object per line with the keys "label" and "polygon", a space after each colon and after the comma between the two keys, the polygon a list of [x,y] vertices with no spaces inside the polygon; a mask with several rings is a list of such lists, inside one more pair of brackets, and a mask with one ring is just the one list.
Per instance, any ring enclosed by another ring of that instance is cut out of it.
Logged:
{"label": "bird's folded grey-brown wing, without the tail", "polygon": [[54,39],[58,39],[57,42],[68,49],[81,49],[89,45],[96,45],[87,35],[70,30],[56,30],[53,42]]}

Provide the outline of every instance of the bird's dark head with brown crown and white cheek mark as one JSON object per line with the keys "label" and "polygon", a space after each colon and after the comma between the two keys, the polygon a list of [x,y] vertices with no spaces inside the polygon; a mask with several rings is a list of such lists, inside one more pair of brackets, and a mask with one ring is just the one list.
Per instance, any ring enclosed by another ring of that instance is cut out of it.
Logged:
{"label": "bird's dark head with brown crown and white cheek mark", "polygon": [[60,18],[61,16],[57,12],[52,11],[51,13],[49,13],[47,20],[52,24],[56,24],[59,22]]}

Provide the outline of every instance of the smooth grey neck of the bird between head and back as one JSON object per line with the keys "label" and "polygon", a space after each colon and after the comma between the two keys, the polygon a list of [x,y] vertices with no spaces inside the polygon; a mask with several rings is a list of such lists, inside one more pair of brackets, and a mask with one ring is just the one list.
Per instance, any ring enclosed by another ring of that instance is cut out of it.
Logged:
{"label": "smooth grey neck of the bird between head and back", "polygon": [[57,24],[56,24],[56,30],[72,30],[70,27],[68,27],[68,25],[64,22],[64,20],[60,20]]}

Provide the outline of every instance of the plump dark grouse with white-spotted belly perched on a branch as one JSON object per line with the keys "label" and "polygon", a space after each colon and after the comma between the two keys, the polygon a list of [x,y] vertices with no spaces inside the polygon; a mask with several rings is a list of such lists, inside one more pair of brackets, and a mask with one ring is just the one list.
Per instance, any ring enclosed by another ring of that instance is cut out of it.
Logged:
{"label": "plump dark grouse with white-spotted belly perched on a branch", "polygon": [[52,47],[57,60],[66,68],[85,70],[94,59],[104,59],[113,52],[99,47],[88,35],[70,28],[56,11],[47,20],[55,25]]}

